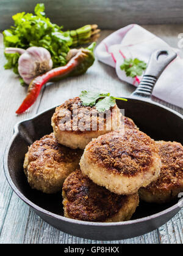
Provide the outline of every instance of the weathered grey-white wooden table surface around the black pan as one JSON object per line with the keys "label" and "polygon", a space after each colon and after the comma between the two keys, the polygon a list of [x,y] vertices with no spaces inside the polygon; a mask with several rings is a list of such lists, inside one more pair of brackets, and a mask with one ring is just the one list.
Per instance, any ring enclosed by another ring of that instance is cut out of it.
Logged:
{"label": "weathered grey-white wooden table surface around the black pan", "polygon": [[[148,25],[144,26],[149,31],[161,37],[172,47],[178,45],[178,34],[182,32],[182,25]],[[101,39],[109,35],[112,31],[102,31]],[[45,86],[42,89],[37,102],[26,113],[20,116],[15,115],[15,110],[20,105],[26,95],[26,88],[20,86],[19,80],[12,70],[4,70],[5,59],[3,49],[0,49],[0,244],[1,243],[182,243],[182,215],[183,211],[173,217],[167,224],[136,238],[124,239],[120,241],[91,241],[77,238],[60,232],[51,227],[32,209],[29,208],[12,191],[7,183],[2,159],[5,147],[13,134],[13,126],[16,122],[31,118],[35,114],[61,104],[68,98],[78,96],[82,89],[104,88],[113,96],[129,96],[134,87],[128,85],[117,78],[115,70],[101,62],[95,64],[85,75],[77,78],[67,78],[66,80],[54,83],[52,86]],[[163,105],[183,114],[183,110],[160,100]],[[176,125],[176,124],[175,124]]]}

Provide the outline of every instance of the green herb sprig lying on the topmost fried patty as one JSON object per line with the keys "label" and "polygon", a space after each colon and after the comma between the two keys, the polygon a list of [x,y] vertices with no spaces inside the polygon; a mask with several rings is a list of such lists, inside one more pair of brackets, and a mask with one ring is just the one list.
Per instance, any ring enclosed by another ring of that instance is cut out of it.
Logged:
{"label": "green herb sprig lying on the topmost fried patty", "polygon": [[127,101],[127,99],[110,96],[110,93],[91,91],[82,91],[79,97],[82,101],[82,105],[90,107],[95,105],[96,110],[99,112],[104,112],[109,110],[110,107],[113,107],[116,104],[116,99]]}

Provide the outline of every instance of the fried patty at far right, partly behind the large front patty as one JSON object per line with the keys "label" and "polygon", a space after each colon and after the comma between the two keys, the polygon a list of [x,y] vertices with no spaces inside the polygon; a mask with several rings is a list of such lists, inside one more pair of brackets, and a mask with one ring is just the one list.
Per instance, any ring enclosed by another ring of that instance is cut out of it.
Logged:
{"label": "fried patty at far right, partly behind the large front patty", "polygon": [[156,141],[162,161],[160,176],[140,189],[142,200],[165,203],[183,192],[183,146],[178,142]]}

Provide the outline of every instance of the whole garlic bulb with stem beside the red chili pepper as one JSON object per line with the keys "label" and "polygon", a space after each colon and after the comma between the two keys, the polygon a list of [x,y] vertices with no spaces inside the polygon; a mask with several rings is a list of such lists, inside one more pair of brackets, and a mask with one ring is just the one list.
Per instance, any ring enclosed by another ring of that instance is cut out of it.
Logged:
{"label": "whole garlic bulb with stem beside the red chili pepper", "polygon": [[29,47],[27,50],[21,48],[6,48],[5,53],[21,54],[18,59],[18,72],[27,84],[41,73],[52,69],[51,55],[46,48]]}

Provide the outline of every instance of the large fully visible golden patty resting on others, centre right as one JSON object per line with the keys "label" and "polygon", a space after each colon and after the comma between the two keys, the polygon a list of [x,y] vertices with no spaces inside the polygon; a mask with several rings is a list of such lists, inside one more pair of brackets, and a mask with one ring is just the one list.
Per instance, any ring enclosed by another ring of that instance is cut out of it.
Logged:
{"label": "large fully visible golden patty resting on others, centre right", "polygon": [[160,172],[154,140],[135,129],[110,132],[93,139],[81,157],[82,173],[116,194],[134,194]]}

